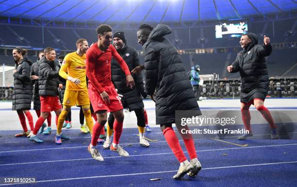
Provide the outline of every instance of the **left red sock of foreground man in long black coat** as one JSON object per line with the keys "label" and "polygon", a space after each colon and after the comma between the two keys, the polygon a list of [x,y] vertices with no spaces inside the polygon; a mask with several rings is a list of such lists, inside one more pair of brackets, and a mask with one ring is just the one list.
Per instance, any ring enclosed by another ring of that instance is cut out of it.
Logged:
{"label": "left red sock of foreground man in long black coat", "polygon": [[178,137],[176,136],[172,127],[166,127],[163,131],[163,135],[174,153],[175,157],[179,160],[179,162],[185,161],[187,158],[185,157],[184,153],[182,152],[181,145],[179,142]]}

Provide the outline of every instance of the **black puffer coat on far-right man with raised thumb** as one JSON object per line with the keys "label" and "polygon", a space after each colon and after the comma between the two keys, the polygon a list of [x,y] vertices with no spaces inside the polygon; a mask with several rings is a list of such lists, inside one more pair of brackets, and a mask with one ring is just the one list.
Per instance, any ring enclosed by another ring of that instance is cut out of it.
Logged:
{"label": "black puffer coat on far-right man with raised thumb", "polygon": [[272,52],[272,46],[257,45],[255,34],[248,34],[252,42],[246,49],[238,52],[232,63],[232,73],[238,72],[241,76],[241,102],[249,102],[255,98],[265,99],[269,88],[269,78],[265,63],[265,56]]}

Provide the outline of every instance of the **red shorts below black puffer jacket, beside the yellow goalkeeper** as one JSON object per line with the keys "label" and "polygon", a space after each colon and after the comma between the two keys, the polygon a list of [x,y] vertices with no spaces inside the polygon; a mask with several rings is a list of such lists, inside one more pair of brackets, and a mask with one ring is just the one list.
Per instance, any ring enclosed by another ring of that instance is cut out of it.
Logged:
{"label": "red shorts below black puffer jacket, beside the yellow goalkeeper", "polygon": [[40,96],[41,112],[51,112],[62,108],[58,96]]}

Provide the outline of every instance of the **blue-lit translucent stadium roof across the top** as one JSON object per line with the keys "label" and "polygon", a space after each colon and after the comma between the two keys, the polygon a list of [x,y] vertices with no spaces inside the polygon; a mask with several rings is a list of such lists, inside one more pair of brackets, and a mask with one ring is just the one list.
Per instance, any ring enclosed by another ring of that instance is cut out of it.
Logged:
{"label": "blue-lit translucent stadium roof across the top", "polygon": [[96,23],[178,23],[287,13],[296,0],[0,0],[0,16]]}

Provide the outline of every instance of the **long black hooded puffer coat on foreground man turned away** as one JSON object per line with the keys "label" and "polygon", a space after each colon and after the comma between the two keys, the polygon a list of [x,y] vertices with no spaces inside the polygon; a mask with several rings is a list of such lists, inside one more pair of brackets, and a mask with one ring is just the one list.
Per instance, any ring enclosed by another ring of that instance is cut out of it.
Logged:
{"label": "long black hooded puffer coat on foreground man turned away", "polygon": [[196,110],[201,115],[191,83],[176,48],[164,38],[170,27],[158,24],[144,44],[146,91],[156,89],[156,124],[174,123],[176,110]]}

